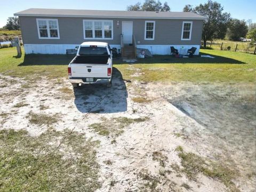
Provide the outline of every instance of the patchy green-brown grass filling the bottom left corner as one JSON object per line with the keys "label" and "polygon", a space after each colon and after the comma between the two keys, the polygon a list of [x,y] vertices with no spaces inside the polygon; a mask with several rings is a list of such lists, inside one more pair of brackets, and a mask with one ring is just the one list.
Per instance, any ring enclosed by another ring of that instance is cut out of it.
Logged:
{"label": "patchy green-brown grass filling the bottom left corner", "polygon": [[[98,142],[77,132],[68,133],[49,129],[39,137],[31,137],[23,130],[1,130],[0,191],[99,189],[95,151]],[[60,150],[54,151],[65,135]]]}

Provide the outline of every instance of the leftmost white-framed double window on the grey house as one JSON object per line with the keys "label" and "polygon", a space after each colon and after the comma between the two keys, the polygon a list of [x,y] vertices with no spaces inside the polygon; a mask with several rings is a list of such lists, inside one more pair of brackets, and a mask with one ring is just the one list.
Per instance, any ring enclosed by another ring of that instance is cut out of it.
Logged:
{"label": "leftmost white-framed double window on the grey house", "polygon": [[58,19],[36,19],[39,39],[59,39]]}

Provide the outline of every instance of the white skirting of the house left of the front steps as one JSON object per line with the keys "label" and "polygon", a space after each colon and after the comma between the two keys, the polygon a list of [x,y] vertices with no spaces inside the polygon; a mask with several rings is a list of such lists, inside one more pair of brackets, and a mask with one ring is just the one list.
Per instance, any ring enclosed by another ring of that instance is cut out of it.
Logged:
{"label": "white skirting of the house left of the front steps", "polygon": [[[75,49],[76,44],[24,44],[25,54],[66,54],[67,49]],[[110,45],[121,49],[121,45]]]}

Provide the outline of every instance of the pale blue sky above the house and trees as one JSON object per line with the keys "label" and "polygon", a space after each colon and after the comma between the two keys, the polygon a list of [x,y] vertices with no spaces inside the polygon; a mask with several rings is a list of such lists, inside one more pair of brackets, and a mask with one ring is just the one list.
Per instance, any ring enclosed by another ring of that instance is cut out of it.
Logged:
{"label": "pale blue sky above the house and trees", "polygon": [[[167,2],[171,11],[182,11],[187,4],[199,5],[207,2],[198,0],[162,0]],[[0,27],[6,24],[8,17],[13,13],[29,8],[53,8],[53,9],[90,9],[90,10],[126,10],[127,5],[144,2],[138,0],[0,0]],[[231,17],[237,19],[252,19],[256,22],[256,0],[218,0],[224,7],[224,11],[231,13]]]}

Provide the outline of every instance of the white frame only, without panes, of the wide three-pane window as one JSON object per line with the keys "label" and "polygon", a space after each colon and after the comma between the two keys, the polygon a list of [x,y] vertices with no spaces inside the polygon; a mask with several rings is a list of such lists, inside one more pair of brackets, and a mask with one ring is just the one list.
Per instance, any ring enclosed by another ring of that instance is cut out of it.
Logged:
{"label": "white frame only, without panes, of the wide three-pane window", "polygon": [[[92,22],[92,37],[85,37],[85,26],[84,26],[84,21],[91,21]],[[95,21],[100,21],[102,24],[102,38],[95,38],[95,25],[94,22]],[[105,38],[105,30],[104,30],[104,22],[111,22],[111,38]],[[84,39],[108,39],[108,40],[113,40],[113,20],[92,20],[92,19],[83,19],[83,30],[84,30]]]}

